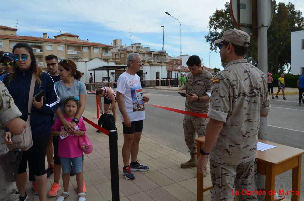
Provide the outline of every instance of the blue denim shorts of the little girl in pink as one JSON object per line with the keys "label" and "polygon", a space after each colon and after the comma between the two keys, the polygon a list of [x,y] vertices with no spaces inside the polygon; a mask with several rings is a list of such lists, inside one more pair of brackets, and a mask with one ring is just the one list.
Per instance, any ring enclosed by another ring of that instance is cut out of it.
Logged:
{"label": "blue denim shorts of the little girl in pink", "polygon": [[71,163],[73,164],[73,169],[75,173],[82,172],[82,156],[76,158],[60,157],[60,162],[62,166],[62,173],[64,174],[71,172]]}

